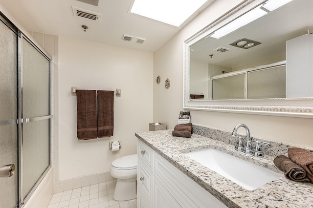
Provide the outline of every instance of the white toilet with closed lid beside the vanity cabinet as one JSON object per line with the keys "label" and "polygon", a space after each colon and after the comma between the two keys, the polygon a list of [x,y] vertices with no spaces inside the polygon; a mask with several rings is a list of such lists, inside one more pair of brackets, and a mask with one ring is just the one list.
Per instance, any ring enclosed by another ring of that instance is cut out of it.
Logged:
{"label": "white toilet with closed lid beside the vanity cabinet", "polygon": [[117,179],[113,199],[126,201],[137,198],[137,154],[114,160],[110,174]]}

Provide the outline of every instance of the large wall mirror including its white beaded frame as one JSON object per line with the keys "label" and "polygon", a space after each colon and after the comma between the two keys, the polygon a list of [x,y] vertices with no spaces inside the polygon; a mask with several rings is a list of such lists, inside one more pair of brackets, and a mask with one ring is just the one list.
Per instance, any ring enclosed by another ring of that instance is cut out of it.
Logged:
{"label": "large wall mirror including its white beaded frame", "polygon": [[183,108],[313,118],[312,14],[246,0],[186,40]]}

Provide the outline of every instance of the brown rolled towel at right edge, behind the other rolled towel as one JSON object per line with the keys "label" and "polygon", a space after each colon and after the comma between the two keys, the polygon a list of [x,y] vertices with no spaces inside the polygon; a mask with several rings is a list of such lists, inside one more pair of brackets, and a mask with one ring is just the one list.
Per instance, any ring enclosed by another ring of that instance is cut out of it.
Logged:
{"label": "brown rolled towel at right edge, behind the other rolled towel", "polygon": [[288,157],[307,171],[307,177],[313,183],[313,153],[298,147],[288,149]]}

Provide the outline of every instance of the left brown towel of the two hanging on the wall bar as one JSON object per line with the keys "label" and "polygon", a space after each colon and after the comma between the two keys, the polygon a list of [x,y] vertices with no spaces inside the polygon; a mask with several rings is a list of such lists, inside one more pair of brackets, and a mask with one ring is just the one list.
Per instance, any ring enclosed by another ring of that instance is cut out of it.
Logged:
{"label": "left brown towel of the two hanging on the wall bar", "polygon": [[96,90],[76,90],[77,96],[77,138],[97,138]]}

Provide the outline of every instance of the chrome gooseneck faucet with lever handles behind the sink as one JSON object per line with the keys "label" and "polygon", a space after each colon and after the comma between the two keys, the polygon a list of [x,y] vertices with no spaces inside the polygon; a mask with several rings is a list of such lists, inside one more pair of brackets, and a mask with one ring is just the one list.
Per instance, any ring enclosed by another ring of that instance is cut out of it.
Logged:
{"label": "chrome gooseneck faucet with lever handles behind the sink", "polygon": [[[246,144],[244,146],[243,138],[237,135],[237,130],[240,127],[244,127],[246,129]],[[235,126],[233,132],[231,133],[232,137],[238,138],[238,146],[235,146],[235,149],[241,152],[245,152],[246,154],[254,155],[255,157],[264,157],[264,153],[261,151],[262,145],[269,145],[267,142],[259,142],[256,141],[255,150],[252,148],[252,140],[250,138],[250,130],[248,126],[244,124],[238,124]]]}

